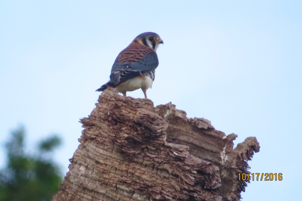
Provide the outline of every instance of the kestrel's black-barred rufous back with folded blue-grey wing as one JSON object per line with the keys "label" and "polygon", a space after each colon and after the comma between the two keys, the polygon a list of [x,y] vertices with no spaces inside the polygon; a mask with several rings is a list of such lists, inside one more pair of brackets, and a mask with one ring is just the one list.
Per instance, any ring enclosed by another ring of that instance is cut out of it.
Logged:
{"label": "kestrel's black-barred rufous back with folded blue-grey wing", "polygon": [[156,52],[139,43],[130,43],[114,61],[110,80],[116,85],[122,81],[143,75],[157,68],[159,62]]}

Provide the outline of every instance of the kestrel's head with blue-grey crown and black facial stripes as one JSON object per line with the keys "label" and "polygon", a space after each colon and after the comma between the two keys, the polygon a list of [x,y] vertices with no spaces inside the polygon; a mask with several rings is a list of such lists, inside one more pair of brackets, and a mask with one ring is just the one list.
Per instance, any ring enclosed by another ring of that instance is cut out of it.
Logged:
{"label": "kestrel's head with blue-grey crown and black facial stripes", "polygon": [[156,51],[159,44],[163,44],[164,41],[154,32],[145,32],[138,35],[132,42],[140,43],[147,47],[150,47]]}

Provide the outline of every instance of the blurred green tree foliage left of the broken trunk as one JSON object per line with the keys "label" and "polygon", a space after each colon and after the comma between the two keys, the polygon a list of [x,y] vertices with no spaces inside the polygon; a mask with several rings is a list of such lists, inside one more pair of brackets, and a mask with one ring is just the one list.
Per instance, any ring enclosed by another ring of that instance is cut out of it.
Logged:
{"label": "blurred green tree foliage left of the broken trunk", "polygon": [[61,144],[52,136],[38,144],[34,156],[25,154],[24,129],[11,133],[6,142],[7,166],[0,171],[0,201],[47,201],[62,182],[59,167],[53,163],[51,151]]}

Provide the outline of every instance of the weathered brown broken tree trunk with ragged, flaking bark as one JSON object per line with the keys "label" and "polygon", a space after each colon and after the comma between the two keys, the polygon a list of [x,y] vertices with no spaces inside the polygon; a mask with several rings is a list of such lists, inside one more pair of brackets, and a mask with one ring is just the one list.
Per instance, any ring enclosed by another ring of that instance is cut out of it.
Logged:
{"label": "weathered brown broken tree trunk with ragged, flaking bark", "polygon": [[233,149],[237,135],[209,120],[112,88],[80,122],[81,144],[53,201],[239,200],[247,184],[238,174],[260,148],[249,137]]}

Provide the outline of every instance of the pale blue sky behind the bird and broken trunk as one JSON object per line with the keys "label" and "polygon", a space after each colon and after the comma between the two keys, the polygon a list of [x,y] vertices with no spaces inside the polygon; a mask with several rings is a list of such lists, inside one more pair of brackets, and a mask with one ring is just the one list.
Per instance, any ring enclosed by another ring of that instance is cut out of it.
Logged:
{"label": "pale blue sky behind the bird and broken trunk", "polygon": [[1,1],[0,143],[20,124],[32,149],[59,133],[56,161],[68,171],[95,89],[117,54],[153,31],[164,41],[154,105],[172,101],[236,133],[235,145],[257,137],[250,171],[283,180],[252,181],[243,201],[300,200],[301,22],[301,1]]}

